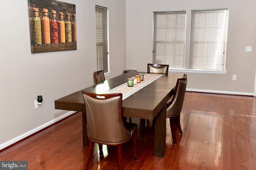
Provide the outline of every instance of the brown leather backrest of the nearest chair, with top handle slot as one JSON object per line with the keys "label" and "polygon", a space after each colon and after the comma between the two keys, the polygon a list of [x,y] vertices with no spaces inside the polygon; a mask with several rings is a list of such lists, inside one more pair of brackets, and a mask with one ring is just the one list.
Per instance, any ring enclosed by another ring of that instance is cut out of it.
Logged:
{"label": "brown leather backrest of the nearest chair, with top handle slot", "polygon": [[131,139],[122,116],[122,93],[95,94],[82,91],[87,116],[87,136],[95,143],[114,145]]}

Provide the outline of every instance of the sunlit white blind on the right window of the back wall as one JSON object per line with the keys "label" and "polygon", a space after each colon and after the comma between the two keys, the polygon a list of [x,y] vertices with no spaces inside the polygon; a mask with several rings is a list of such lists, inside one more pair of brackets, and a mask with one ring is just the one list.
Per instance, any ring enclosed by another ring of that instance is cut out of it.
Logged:
{"label": "sunlit white blind on the right window of the back wall", "polygon": [[228,9],[192,10],[189,68],[224,70]]}

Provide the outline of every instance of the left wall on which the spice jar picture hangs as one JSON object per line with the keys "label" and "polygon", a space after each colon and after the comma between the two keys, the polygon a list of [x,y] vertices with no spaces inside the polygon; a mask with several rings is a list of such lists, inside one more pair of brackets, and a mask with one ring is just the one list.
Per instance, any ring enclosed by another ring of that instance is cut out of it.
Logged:
{"label": "left wall on which the spice jar picture hangs", "polygon": [[[68,112],[56,110],[54,100],[93,84],[95,5],[109,8],[111,74],[106,79],[125,69],[125,1],[62,2],[76,5],[77,50],[38,54],[30,50],[28,2],[1,2],[2,14],[8,16],[0,27],[0,149]],[[43,102],[34,109],[38,95]]]}

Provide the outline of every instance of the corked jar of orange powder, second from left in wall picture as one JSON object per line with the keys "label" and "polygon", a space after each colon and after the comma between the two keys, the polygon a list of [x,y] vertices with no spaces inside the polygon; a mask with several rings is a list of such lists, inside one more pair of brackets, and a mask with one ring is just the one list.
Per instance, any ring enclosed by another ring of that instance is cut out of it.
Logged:
{"label": "corked jar of orange powder, second from left in wall picture", "polygon": [[50,44],[51,43],[51,35],[50,35],[50,19],[48,17],[48,9],[42,8],[42,43]]}

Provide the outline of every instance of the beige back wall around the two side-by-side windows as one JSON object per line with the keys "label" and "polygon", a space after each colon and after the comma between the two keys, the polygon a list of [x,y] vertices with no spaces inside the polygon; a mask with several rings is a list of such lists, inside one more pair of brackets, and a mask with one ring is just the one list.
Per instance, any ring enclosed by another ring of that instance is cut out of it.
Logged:
{"label": "beige back wall around the two side-by-side windows", "polygon": [[[146,71],[152,63],[152,12],[187,11],[186,63],[189,59],[190,11],[229,8],[226,74],[188,74],[188,90],[230,94],[254,94],[256,69],[255,0],[127,0],[126,68]],[[245,52],[252,46],[252,52]],[[237,80],[232,80],[232,75]]]}

